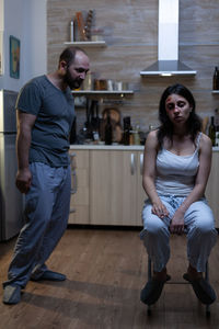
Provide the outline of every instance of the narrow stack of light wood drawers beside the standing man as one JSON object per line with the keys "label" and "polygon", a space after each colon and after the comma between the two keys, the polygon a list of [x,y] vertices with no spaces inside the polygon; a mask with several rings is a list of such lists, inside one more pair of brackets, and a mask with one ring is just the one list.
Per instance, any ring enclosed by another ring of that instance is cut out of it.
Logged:
{"label": "narrow stack of light wood drawers beside the standing man", "polygon": [[[71,151],[72,152],[72,151]],[[72,177],[72,186],[76,193],[71,195],[69,224],[89,224],[89,177],[90,163],[88,150],[76,150],[74,170],[76,178]],[[77,180],[77,181],[76,181]]]}

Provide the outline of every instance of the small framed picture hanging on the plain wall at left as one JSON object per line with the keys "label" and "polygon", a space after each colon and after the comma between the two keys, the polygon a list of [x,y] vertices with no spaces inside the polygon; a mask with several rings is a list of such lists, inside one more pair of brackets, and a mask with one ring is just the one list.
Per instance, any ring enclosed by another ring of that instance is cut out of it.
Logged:
{"label": "small framed picture hanging on the plain wall at left", "polygon": [[10,35],[10,77],[20,78],[20,39]]}

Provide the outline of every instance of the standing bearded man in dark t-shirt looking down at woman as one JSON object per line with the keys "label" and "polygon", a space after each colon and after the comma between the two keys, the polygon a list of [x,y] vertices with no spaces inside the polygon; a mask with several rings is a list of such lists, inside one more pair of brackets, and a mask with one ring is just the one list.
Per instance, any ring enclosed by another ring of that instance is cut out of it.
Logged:
{"label": "standing bearded man in dark t-shirt looking down at woman", "polygon": [[68,150],[74,118],[71,89],[81,86],[88,71],[87,54],[68,47],[54,73],[34,78],[19,94],[16,186],[25,193],[25,225],[16,241],[8,281],[3,283],[4,304],[18,304],[28,280],[66,280],[66,275],[48,270],[45,262],[68,223]]}

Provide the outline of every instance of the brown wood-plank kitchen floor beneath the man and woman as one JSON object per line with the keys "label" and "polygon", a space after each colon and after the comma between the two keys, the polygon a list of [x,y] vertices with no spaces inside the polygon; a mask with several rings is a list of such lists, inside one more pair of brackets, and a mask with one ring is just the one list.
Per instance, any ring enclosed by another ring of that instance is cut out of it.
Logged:
{"label": "brown wood-plank kitchen floor beneath the man and woman", "polygon": [[[171,239],[168,270],[172,281],[183,281],[187,266],[185,242],[185,237]],[[0,243],[1,282],[7,279],[13,246],[14,239]],[[188,284],[166,284],[148,317],[147,307],[139,300],[147,277],[147,257],[138,231],[70,228],[48,265],[66,273],[68,280],[30,282],[20,304],[0,303],[1,329],[219,328],[219,299],[207,319],[205,307]],[[211,284],[219,295],[219,242],[209,265]]]}

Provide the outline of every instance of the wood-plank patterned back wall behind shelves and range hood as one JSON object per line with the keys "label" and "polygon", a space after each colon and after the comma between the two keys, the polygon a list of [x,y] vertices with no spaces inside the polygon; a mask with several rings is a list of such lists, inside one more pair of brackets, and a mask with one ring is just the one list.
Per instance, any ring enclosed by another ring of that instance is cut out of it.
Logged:
{"label": "wood-plank patterned back wall behind shelves and range hood", "polygon": [[[211,94],[214,67],[219,64],[217,0],[180,0],[180,59],[197,70],[196,77],[140,77],[140,70],[158,58],[158,0],[48,0],[48,71],[57,68],[64,42],[69,41],[71,18],[89,9],[95,11],[95,26],[107,43],[106,48],[87,49],[91,70],[99,78],[129,82],[135,91],[123,103],[114,103],[123,116],[130,115],[131,123],[140,122],[145,131],[158,124],[160,95],[175,82],[193,91],[200,116],[214,114],[219,104],[219,95]],[[84,110],[78,110],[78,120],[81,124],[85,120]]]}

